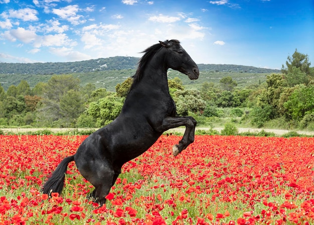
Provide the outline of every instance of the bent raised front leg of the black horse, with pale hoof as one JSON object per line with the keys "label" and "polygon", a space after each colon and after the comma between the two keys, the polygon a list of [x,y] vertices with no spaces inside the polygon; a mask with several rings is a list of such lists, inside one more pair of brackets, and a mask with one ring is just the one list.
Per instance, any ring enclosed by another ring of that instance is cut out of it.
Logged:
{"label": "bent raised front leg of the black horse, with pale hoof", "polygon": [[183,149],[186,149],[189,144],[194,142],[194,132],[196,120],[192,116],[186,117],[166,117],[163,121],[163,130],[169,130],[179,126],[186,126],[186,131],[179,141],[179,144],[174,145],[173,154],[177,156]]}

